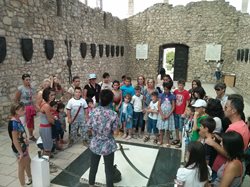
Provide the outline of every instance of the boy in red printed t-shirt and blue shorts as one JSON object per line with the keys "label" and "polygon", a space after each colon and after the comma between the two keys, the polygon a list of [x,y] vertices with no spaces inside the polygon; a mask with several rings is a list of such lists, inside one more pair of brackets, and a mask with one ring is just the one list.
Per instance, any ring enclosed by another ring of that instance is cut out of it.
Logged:
{"label": "boy in red printed t-shirt and blue shorts", "polygon": [[182,127],[183,127],[183,118],[182,115],[185,112],[186,106],[188,106],[190,95],[187,90],[184,89],[185,81],[178,81],[178,89],[174,91],[176,97],[175,105],[175,133],[176,140],[172,142],[172,145],[176,145],[176,148],[181,147],[182,141]]}

